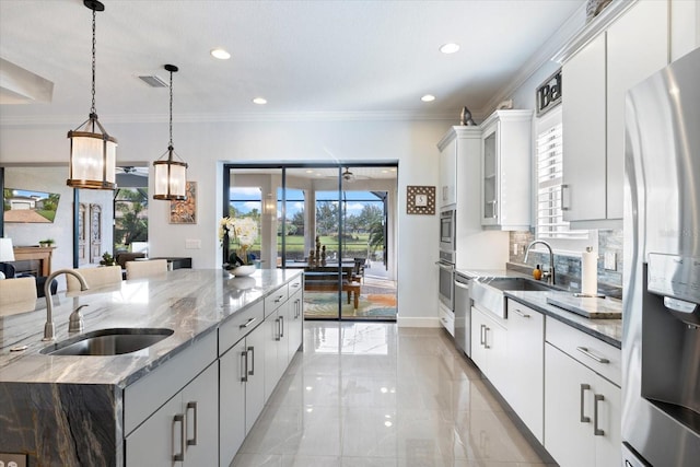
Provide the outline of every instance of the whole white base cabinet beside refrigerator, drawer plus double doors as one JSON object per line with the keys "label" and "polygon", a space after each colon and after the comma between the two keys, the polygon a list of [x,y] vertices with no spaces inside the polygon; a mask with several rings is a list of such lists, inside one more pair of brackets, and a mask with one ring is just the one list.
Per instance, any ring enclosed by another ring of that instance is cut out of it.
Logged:
{"label": "whole white base cabinet beside refrigerator, drawer plus double doors", "polygon": [[547,318],[544,444],[562,467],[621,465],[619,362],[619,349]]}

